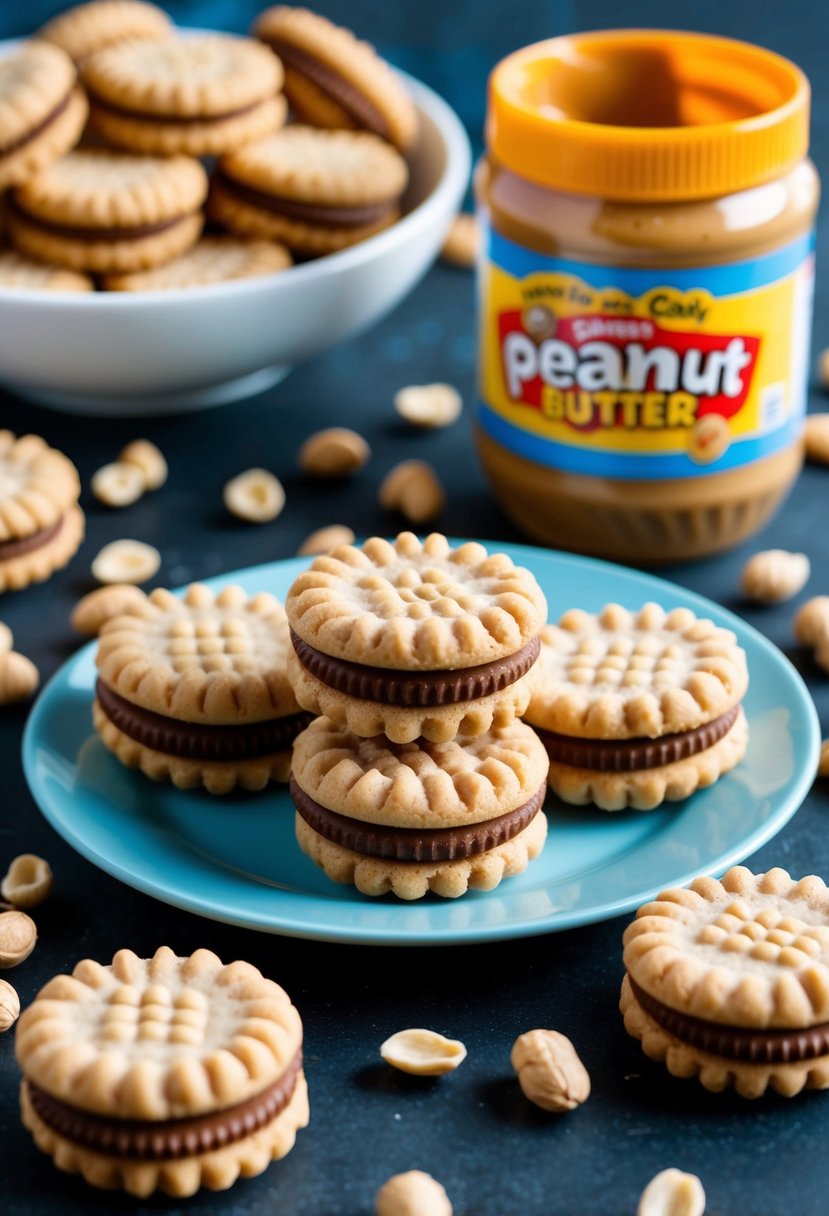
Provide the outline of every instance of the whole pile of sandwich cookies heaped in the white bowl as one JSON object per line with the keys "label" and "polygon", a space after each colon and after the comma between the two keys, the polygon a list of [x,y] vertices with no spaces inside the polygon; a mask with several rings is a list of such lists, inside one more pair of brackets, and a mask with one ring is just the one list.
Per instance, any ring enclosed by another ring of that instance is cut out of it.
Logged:
{"label": "whole pile of sandwich cookies heaped in the white bowl", "polygon": [[400,216],[416,131],[373,49],[306,10],[181,36],[142,0],[79,5],[0,60],[0,285],[164,289],[346,248]]}

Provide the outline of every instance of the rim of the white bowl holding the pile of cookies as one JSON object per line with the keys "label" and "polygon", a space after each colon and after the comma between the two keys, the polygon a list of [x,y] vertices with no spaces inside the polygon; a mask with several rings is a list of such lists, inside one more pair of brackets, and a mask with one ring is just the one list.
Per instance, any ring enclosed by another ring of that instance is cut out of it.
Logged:
{"label": "rim of the white bowl holding the pile of cookies", "polygon": [[[229,34],[227,30],[209,30],[203,28],[180,27],[185,34]],[[233,35],[229,36],[244,36]],[[9,38],[0,39],[0,56],[19,46],[27,39]],[[97,309],[120,308],[141,310],[158,306],[164,302],[175,305],[181,300],[193,303],[198,299],[202,303],[205,297],[210,300],[232,299],[239,294],[256,295],[272,291],[276,283],[293,282],[297,285],[298,276],[304,283],[312,285],[316,280],[325,281],[332,274],[348,272],[356,266],[372,261],[376,257],[400,243],[406,243],[407,238],[413,238],[418,231],[432,226],[435,214],[445,209],[446,201],[455,198],[461,191],[461,185],[469,180],[472,165],[472,150],[466,129],[449,102],[444,101],[434,89],[410,75],[401,68],[394,68],[406,86],[407,92],[419,113],[425,114],[434,123],[445,151],[446,164],[436,185],[422,202],[396,220],[390,227],[367,237],[359,244],[338,253],[329,253],[312,261],[305,261],[289,268],[289,275],[284,271],[269,275],[259,275],[255,278],[231,280],[225,283],[207,283],[194,289],[193,287],[173,287],[159,291],[146,292],[53,292],[33,287],[5,287],[0,285],[0,306],[2,304],[21,304],[29,308],[61,311],[67,308],[86,309],[95,313]],[[287,288],[286,288],[287,289]],[[194,291],[197,294],[194,294]]]}

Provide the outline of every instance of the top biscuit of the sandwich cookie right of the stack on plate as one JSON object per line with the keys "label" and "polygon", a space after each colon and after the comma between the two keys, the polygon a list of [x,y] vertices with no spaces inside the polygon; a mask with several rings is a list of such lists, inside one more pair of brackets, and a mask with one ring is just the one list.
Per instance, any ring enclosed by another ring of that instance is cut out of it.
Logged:
{"label": "top biscuit of the sandwich cookie right of the stack on plate", "polygon": [[665,612],[647,603],[631,613],[607,604],[594,614],[574,608],[541,631],[541,643],[542,677],[526,720],[573,738],[689,731],[732,709],[749,683],[734,634],[689,608]]}

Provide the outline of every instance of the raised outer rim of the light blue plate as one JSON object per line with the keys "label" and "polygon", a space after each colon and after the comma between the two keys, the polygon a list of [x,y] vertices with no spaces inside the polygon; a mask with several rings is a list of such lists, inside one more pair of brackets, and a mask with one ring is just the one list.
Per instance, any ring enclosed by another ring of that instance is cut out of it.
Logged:
{"label": "raised outer rim of the light blue plate", "polygon": [[[466,541],[461,537],[449,537],[450,544],[461,545]],[[359,541],[357,541],[359,544]],[[531,562],[532,558],[540,554],[542,558],[554,558],[557,562],[566,565],[575,565],[580,569],[592,569],[597,573],[613,572],[614,574],[624,574],[626,579],[632,580],[633,584],[641,584],[653,592],[654,589],[667,589],[671,595],[677,595],[679,592],[683,597],[687,597],[688,607],[694,610],[703,609],[710,613],[711,608],[715,610],[715,618],[722,621],[727,627],[735,629],[738,635],[744,634],[751,642],[757,646],[767,658],[774,665],[782,665],[786,670],[786,675],[799,694],[799,704],[803,711],[805,721],[807,724],[807,736],[805,736],[805,745],[807,747],[807,762],[801,764],[799,770],[793,776],[791,789],[782,805],[782,807],[768,817],[768,820],[760,824],[749,837],[741,838],[741,843],[733,845],[716,858],[711,861],[703,871],[694,868],[688,873],[684,873],[681,878],[670,879],[670,885],[682,886],[686,885],[692,878],[699,873],[720,876],[724,873],[732,865],[738,863],[741,858],[751,856],[765,844],[768,843],[778,832],[780,832],[785,824],[794,817],[803,800],[806,799],[808,790],[812,787],[814,779],[814,772],[817,771],[818,753],[820,747],[820,726],[814,706],[814,702],[808,691],[806,681],[797,671],[795,665],[791,663],[789,657],[780,651],[769,638],[760,632],[754,625],[750,625],[743,618],[738,617],[737,613],[732,612],[716,601],[703,596],[700,592],[692,591],[681,584],[672,582],[659,574],[650,574],[639,569],[620,565],[615,562],[608,562],[602,558],[585,557],[577,553],[568,553],[559,550],[543,548],[541,546],[528,545],[523,542],[513,541],[480,541],[490,552],[497,552],[504,547],[509,551],[511,557],[514,561]],[[291,564],[295,564],[298,568],[304,568],[308,564],[306,558],[301,557],[284,557],[276,558],[271,562],[263,562],[258,565],[248,565],[235,570],[229,570],[225,574],[212,575],[204,581],[208,586],[215,586],[222,582],[244,582],[250,579],[259,576],[260,572],[265,568],[270,569],[272,567],[284,568]],[[175,590],[175,593],[182,593],[184,587]],[[113,862],[100,850],[94,848],[88,843],[85,837],[79,835],[72,823],[68,823],[62,814],[55,810],[51,804],[51,796],[44,789],[38,776],[36,765],[36,728],[40,717],[44,713],[44,706],[50,703],[50,694],[52,693],[53,686],[62,681],[66,675],[84,660],[95,649],[96,640],[83,644],[77,649],[68,659],[66,659],[58,669],[52,674],[49,681],[41,688],[32,711],[26,722],[22,738],[22,766],[24,778],[29,789],[29,793],[38,806],[38,810],[44,816],[46,822],[67,841],[81,857],[91,862],[98,869],[111,877],[123,882],[125,885],[131,886],[135,890],[141,891],[145,895],[158,900],[159,902],[167,903],[180,908],[181,911],[190,912],[196,916],[203,916],[212,921],[218,921],[224,924],[235,925],[244,929],[255,929],[260,933],[269,933],[272,935],[284,935],[303,940],[315,940],[315,941],[327,941],[339,945],[362,945],[362,946],[452,946],[452,945],[484,945],[491,941],[504,941],[515,940],[532,936],[541,936],[543,934],[564,931],[566,929],[579,928],[582,925],[596,924],[602,921],[613,919],[616,916],[631,912],[633,908],[638,907],[641,903],[645,902],[656,894],[658,890],[665,888],[665,883],[658,883],[655,885],[645,886],[641,891],[633,895],[625,896],[621,899],[607,900],[603,902],[594,903],[587,910],[563,910],[554,913],[553,921],[551,918],[542,919],[512,919],[502,924],[495,925],[479,925],[472,928],[452,929],[451,927],[445,929],[436,929],[429,931],[413,933],[411,930],[400,930],[394,928],[340,928],[337,924],[323,924],[318,922],[317,917],[311,919],[305,919],[304,922],[298,922],[295,916],[288,913],[277,914],[275,917],[264,921],[261,917],[256,917],[255,913],[249,912],[246,914],[239,914],[239,912],[229,911],[224,907],[216,907],[215,903],[210,902],[208,897],[199,894],[190,894],[187,896],[181,895],[174,886],[164,885],[154,880],[152,877],[136,876],[134,872],[125,869],[118,862]],[[287,893],[282,893],[287,894]],[[318,896],[314,896],[318,899]],[[333,899],[333,903],[338,901]],[[370,907],[371,905],[367,905]]]}

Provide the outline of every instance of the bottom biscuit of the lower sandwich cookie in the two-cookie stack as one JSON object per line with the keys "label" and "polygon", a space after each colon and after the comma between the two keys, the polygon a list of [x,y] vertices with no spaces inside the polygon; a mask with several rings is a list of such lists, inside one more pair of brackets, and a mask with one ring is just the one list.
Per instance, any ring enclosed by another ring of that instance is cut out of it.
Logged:
{"label": "bottom biscuit of the lower sandwich cookie in the two-cookie stack", "polygon": [[512,840],[461,861],[395,862],[368,857],[326,840],[297,814],[297,841],[311,861],[334,883],[356,886],[363,895],[391,893],[401,900],[419,900],[429,891],[458,899],[468,890],[491,891],[502,879],[523,873],[547,839],[547,817],[541,810]]}

